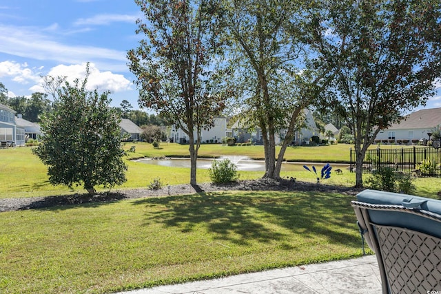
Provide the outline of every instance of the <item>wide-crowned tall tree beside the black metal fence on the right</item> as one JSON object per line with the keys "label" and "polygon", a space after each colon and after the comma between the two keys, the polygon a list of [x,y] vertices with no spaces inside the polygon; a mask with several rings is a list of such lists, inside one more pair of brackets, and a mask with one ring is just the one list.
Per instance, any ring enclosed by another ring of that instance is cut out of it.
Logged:
{"label": "wide-crowned tall tree beside the black metal fence on the right", "polygon": [[321,1],[311,14],[316,65],[332,78],[322,100],[354,134],[356,186],[380,130],[424,105],[441,75],[439,0]]}

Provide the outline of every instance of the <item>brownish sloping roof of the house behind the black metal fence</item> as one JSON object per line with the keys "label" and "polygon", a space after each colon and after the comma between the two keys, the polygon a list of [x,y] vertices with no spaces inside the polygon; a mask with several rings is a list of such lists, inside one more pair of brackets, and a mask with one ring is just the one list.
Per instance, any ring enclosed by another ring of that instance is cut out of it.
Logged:
{"label": "brownish sloping roof of the house behind the black metal fence", "polygon": [[424,129],[441,124],[441,107],[421,109],[407,116],[400,123],[394,123],[387,129]]}

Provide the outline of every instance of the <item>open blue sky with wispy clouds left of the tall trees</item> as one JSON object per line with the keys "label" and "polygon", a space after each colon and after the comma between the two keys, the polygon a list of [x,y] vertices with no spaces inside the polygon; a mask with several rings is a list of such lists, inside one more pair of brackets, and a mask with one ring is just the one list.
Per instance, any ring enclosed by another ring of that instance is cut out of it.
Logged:
{"label": "open blue sky with wispy clouds left of the tall trees", "polygon": [[83,77],[138,109],[127,50],[136,48],[141,10],[133,0],[0,0],[0,82],[10,96],[43,92],[40,76]]}

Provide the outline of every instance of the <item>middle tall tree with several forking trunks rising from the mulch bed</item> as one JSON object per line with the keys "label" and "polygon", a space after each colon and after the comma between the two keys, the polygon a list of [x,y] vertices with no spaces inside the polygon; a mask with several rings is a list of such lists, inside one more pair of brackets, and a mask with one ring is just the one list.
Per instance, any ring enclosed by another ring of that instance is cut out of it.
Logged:
{"label": "middle tall tree with several forking trunks rising from the mulch bed", "polygon": [[[265,176],[280,178],[287,146],[314,96],[313,76],[302,67],[302,1],[221,0],[218,18],[229,36],[229,52],[240,109],[247,123],[260,127]],[[276,135],[287,129],[276,154]]]}

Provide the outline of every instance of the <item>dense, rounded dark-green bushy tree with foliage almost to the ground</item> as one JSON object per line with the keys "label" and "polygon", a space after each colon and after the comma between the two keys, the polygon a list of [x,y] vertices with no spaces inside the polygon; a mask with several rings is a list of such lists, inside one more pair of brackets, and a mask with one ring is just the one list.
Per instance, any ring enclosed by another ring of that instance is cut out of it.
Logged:
{"label": "dense, rounded dark-green bushy tree with foliage almost to the ground", "polygon": [[[87,71],[88,72],[88,71]],[[96,185],[125,182],[120,118],[109,107],[109,92],[85,88],[87,76],[57,88],[54,110],[41,118],[41,144],[33,149],[48,166],[53,185],[83,185],[90,194]]]}

